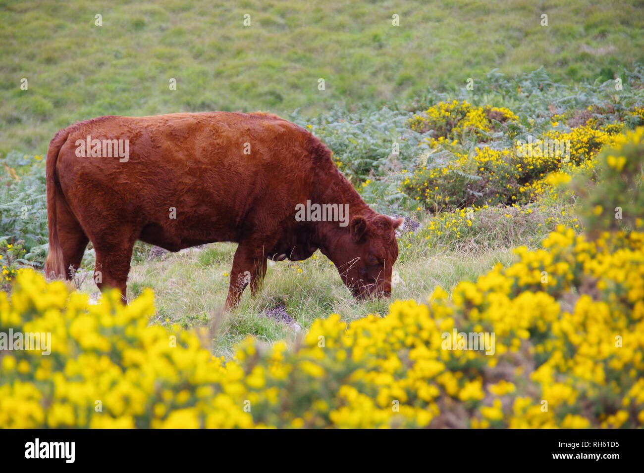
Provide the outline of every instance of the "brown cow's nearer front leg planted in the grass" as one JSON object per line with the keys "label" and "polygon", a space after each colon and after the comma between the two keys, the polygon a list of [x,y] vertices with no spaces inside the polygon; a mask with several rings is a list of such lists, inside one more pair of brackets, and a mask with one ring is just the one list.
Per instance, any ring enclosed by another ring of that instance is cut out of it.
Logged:
{"label": "brown cow's nearer front leg planted in the grass", "polygon": [[231,310],[239,304],[243,290],[251,284],[251,292],[255,294],[266,274],[266,255],[263,248],[257,248],[250,243],[240,243],[232,260],[231,286],[226,298],[226,310]]}

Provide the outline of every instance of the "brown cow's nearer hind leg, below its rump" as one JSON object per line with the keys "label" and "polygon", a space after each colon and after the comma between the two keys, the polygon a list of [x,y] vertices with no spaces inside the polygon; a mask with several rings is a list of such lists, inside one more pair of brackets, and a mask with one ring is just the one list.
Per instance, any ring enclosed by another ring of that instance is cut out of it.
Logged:
{"label": "brown cow's nearer hind leg, below its rump", "polygon": [[94,281],[101,292],[107,288],[118,289],[124,303],[128,301],[128,273],[136,235],[127,228],[119,228],[118,233],[101,234],[100,239],[93,240],[96,250]]}

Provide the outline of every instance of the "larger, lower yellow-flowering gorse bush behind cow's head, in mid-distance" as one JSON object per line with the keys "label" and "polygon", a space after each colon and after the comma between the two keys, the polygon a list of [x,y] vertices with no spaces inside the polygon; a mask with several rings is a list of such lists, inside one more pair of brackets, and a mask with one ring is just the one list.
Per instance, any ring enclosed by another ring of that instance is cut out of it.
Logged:
{"label": "larger, lower yellow-flowering gorse bush behind cow's head, in mid-distance", "polygon": [[[484,145],[469,153],[454,150],[453,160],[416,169],[403,181],[403,187],[433,212],[481,205],[525,205],[542,192],[547,174],[575,165],[592,165],[592,158],[603,145],[611,144],[620,129],[621,125],[595,129],[589,124],[571,131],[553,129],[529,144],[518,142],[509,149]],[[440,138],[426,138],[426,142],[432,149],[453,147]]]}

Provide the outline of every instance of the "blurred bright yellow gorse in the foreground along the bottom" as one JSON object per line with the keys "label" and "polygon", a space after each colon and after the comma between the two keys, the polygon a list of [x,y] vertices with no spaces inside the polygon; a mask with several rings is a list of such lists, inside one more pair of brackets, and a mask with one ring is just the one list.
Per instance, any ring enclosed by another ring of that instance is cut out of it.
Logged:
{"label": "blurred bright yellow gorse in the foreground along the bottom", "polygon": [[[643,134],[608,167],[641,170]],[[451,296],[318,319],[290,348],[249,338],[232,360],[204,332],[149,326],[150,291],[91,305],[21,270],[0,332],[50,333],[51,353],[0,351],[0,427],[642,427],[644,233],[597,225],[559,227]]]}

